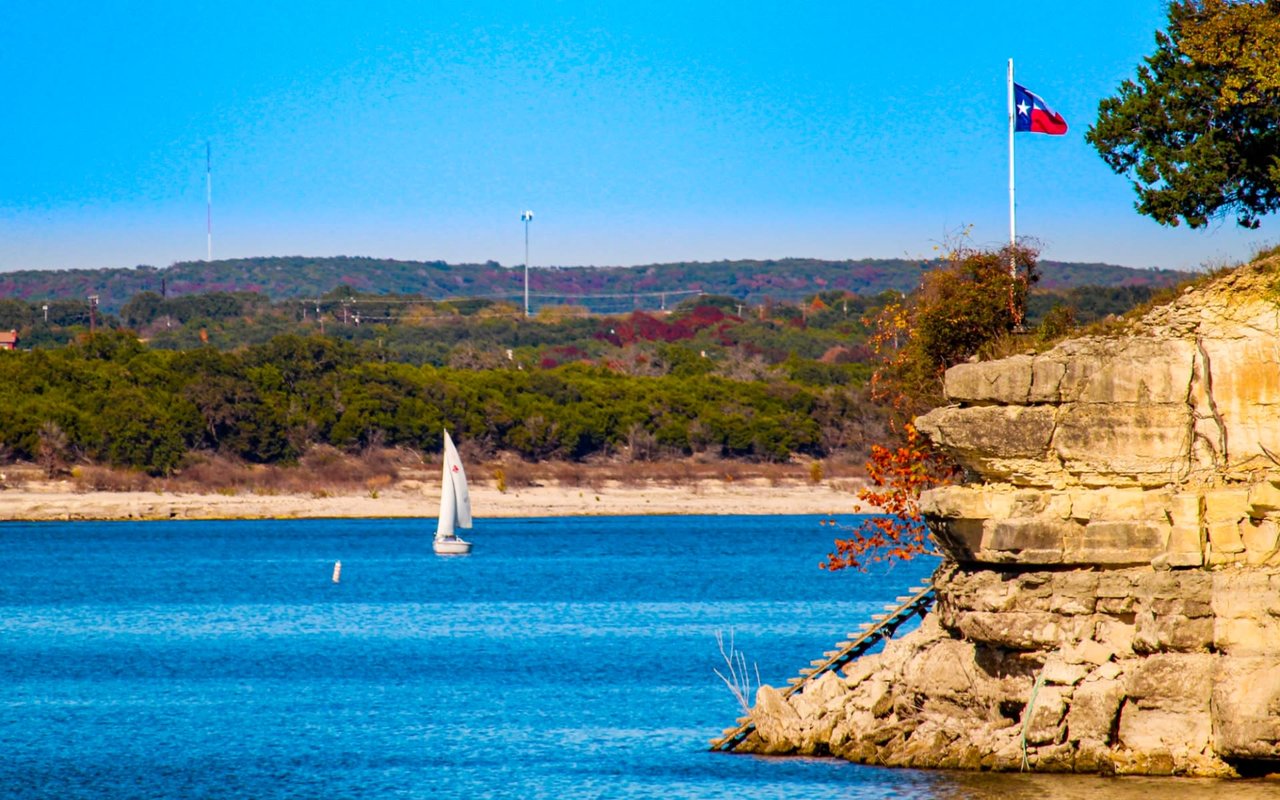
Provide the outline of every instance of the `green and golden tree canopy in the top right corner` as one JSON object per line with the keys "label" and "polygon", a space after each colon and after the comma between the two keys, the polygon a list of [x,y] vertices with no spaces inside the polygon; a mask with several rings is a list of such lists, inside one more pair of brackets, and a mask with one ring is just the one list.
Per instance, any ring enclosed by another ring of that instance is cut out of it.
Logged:
{"label": "green and golden tree canopy in the top right corner", "polygon": [[1257,228],[1280,207],[1280,1],[1170,3],[1156,51],[1085,138],[1156,221]]}

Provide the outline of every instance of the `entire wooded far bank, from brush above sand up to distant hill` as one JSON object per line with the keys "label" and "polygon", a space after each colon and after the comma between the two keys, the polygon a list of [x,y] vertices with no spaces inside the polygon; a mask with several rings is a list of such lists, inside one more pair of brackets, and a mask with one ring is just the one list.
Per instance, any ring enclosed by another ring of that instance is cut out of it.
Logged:
{"label": "entire wooded far bank, from brush above sand up to distant hill", "polygon": [[[1151,296],[1032,292],[1027,321],[1036,330],[1043,317],[1057,335]],[[867,389],[888,340],[868,324],[922,300],[826,289],[801,302],[699,296],[662,314],[548,307],[526,319],[493,300],[348,285],[305,302],[147,291],[116,314],[6,298],[0,329],[18,329],[23,349],[0,353],[0,462],[166,475],[201,453],[291,463],[317,444],[429,452],[445,426],[481,454],[535,461],[860,461],[888,413]],[[937,317],[943,333],[954,316]],[[915,328],[919,338],[929,325]],[[927,361],[920,380],[932,385],[940,365]]]}

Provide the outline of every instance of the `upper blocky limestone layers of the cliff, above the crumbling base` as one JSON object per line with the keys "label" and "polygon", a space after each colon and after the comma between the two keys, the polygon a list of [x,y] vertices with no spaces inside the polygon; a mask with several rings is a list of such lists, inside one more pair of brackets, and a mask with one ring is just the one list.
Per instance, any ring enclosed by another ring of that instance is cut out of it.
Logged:
{"label": "upper blocky limestone layers of the cliff, above the crumbling base", "polygon": [[1253,265],[1121,338],[964,364],[916,426],[978,479],[923,498],[961,563],[1280,564],[1280,305]]}

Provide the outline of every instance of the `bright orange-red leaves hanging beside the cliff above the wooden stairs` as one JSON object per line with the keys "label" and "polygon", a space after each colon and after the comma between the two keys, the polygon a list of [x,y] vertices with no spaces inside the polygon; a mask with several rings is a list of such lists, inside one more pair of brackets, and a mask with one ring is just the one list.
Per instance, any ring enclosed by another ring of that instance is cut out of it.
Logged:
{"label": "bright orange-red leaves hanging beside the cliff above the wooden stairs", "polygon": [[859,511],[873,507],[886,516],[873,516],[849,529],[847,539],[836,539],[823,570],[865,570],[881,561],[909,561],[933,552],[929,529],[920,515],[920,492],[947,483],[954,467],[913,425],[904,426],[901,447],[872,447],[867,475],[872,485],[858,492]]}

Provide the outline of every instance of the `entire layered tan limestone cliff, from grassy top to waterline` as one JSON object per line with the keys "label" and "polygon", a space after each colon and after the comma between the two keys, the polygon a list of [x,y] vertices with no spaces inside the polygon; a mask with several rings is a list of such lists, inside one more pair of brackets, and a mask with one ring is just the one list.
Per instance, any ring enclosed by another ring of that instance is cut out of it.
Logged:
{"label": "entire layered tan limestone cliff, from grassy top to waterline", "polygon": [[916,426],[969,472],[919,631],[745,749],[913,767],[1226,776],[1280,760],[1280,305],[1271,265],[1123,335],[965,364]]}

